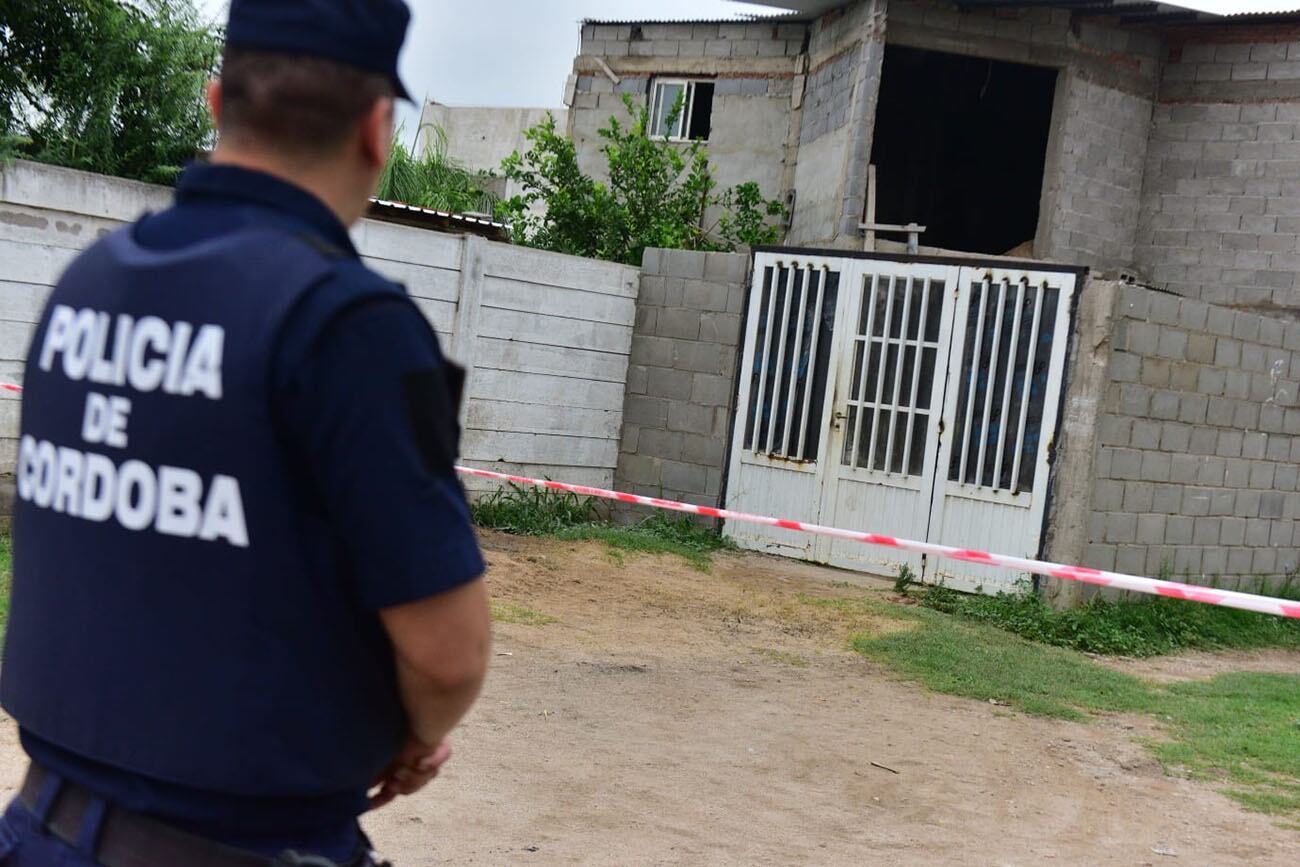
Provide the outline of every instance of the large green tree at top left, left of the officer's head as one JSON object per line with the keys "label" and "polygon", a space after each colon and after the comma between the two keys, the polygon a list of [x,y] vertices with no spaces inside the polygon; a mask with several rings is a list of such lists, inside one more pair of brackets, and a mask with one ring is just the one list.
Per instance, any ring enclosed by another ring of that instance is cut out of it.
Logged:
{"label": "large green tree at top left, left of the officer's head", "polygon": [[212,142],[220,52],[192,0],[0,0],[4,156],[170,182]]}

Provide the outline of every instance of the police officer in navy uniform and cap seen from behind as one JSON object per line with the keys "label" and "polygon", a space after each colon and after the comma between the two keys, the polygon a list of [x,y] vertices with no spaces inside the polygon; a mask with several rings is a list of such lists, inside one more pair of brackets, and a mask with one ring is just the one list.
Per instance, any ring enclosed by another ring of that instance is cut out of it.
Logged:
{"label": "police officer in navy uniform and cap seen from behind", "polygon": [[489,641],[459,377],[346,229],[408,18],[234,0],[211,162],[53,290],[0,679],[31,767],[0,864],[367,864],[358,816],[447,759]]}

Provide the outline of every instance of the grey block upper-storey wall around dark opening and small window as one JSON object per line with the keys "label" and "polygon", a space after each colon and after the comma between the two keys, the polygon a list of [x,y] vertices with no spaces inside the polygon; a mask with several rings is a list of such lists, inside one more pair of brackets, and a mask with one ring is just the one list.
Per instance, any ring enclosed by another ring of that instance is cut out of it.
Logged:
{"label": "grey block upper-storey wall around dark opening and small window", "polygon": [[1062,69],[1035,252],[1132,265],[1162,43],[1062,10],[862,0],[809,23],[586,25],[569,122],[580,162],[603,175],[597,130],[624,110],[615,91],[644,100],[656,75],[715,78],[710,152],[724,186],[754,179],[771,198],[794,188],[789,243],[857,247],[887,39]]}

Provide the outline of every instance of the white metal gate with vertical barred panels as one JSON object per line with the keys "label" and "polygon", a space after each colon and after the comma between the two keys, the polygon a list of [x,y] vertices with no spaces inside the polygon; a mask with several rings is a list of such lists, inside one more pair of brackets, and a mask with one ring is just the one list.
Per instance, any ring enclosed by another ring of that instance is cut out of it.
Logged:
{"label": "white metal gate with vertical barred panels", "polygon": [[[754,260],[728,506],[1036,556],[1071,270],[763,252]],[[1022,576],[776,528],[746,547],[963,590]]]}

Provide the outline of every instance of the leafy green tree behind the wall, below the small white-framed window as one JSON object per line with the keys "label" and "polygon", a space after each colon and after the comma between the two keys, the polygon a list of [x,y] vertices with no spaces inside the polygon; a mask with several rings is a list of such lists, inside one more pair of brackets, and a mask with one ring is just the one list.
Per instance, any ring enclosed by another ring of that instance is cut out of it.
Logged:
{"label": "leafy green tree behind the wall, below the small white-framed window", "polygon": [[608,183],[582,172],[554,116],[525,133],[528,151],[502,164],[524,192],[498,209],[517,243],[640,265],[646,247],[734,250],[779,238],[771,218],[781,203],[753,182],[719,191],[703,143],[651,135],[649,109],[630,96],[624,103],[630,123],[611,117],[599,131]]}

